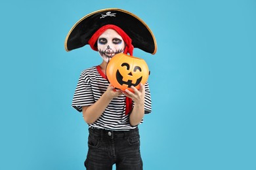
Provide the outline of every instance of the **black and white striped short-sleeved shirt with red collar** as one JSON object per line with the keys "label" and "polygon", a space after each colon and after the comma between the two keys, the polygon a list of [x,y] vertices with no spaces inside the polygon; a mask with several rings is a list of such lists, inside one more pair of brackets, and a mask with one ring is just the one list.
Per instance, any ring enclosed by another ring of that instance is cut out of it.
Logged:
{"label": "black and white striped short-sleeved shirt with red collar", "polygon": [[[79,112],[82,111],[83,106],[93,105],[108,88],[109,82],[106,80],[106,76],[97,68],[94,66],[85,69],[79,77],[72,101],[72,107]],[[148,82],[145,84],[144,111],[145,113],[151,112]],[[142,122],[143,120],[140,123]],[[129,114],[125,115],[125,95],[119,95],[112,99],[100,118],[93,124],[89,124],[89,127],[115,131],[135,129],[137,126],[131,126],[129,123]]]}

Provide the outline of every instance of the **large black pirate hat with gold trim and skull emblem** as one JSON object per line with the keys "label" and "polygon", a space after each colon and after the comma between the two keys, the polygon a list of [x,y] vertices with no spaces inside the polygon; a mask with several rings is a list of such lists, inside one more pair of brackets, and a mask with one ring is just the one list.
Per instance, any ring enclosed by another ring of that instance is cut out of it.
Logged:
{"label": "large black pirate hat with gold trim and skull emblem", "polygon": [[66,51],[88,44],[91,36],[103,25],[113,24],[125,31],[135,48],[156,54],[157,44],[154,34],[138,16],[122,9],[102,9],[87,14],[70,29],[66,40]]}

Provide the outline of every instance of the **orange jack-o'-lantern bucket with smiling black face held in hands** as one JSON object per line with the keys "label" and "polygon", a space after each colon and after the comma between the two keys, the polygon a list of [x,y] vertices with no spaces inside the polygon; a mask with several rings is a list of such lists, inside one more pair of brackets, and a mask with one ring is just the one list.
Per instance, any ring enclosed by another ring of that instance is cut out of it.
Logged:
{"label": "orange jack-o'-lantern bucket with smiling black face held in hands", "polygon": [[140,83],[146,83],[149,71],[144,59],[119,53],[110,59],[106,68],[106,75],[115,88],[131,90],[131,86],[139,89]]}

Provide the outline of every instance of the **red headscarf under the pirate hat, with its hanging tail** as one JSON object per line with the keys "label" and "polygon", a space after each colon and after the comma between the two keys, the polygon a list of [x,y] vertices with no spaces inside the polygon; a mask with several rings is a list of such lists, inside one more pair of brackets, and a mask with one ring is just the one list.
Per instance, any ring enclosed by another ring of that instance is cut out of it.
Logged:
{"label": "red headscarf under the pirate hat, with its hanging tail", "polygon": [[[117,27],[116,25],[112,25],[112,24],[108,24],[108,25],[104,25],[102,27],[100,27],[100,29],[98,29],[93,36],[91,37],[91,39],[89,39],[88,43],[91,46],[91,48],[95,51],[98,51],[98,48],[96,48],[95,43],[96,41],[98,41],[98,37],[100,37],[100,35],[102,35],[102,33],[104,33],[104,31],[106,31],[106,29],[114,29],[123,39],[123,41],[125,41],[125,50],[123,51],[124,54],[129,53],[130,56],[133,56],[133,44],[131,44],[131,38],[125,33],[125,31],[123,31],[123,29],[121,29],[120,27]],[[129,97],[126,97],[125,99],[125,115],[129,114],[132,110],[133,104],[132,104],[132,99]]]}

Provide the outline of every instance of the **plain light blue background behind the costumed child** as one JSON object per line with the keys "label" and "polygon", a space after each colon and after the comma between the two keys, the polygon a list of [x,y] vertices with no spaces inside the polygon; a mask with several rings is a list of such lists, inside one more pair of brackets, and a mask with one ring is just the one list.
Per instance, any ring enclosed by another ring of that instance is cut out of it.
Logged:
{"label": "plain light blue background behind the costumed child", "polygon": [[66,52],[80,18],[117,7],[154,32],[144,169],[256,169],[256,1],[1,1],[0,169],[84,169],[87,124],[71,107],[79,74],[101,59]]}

